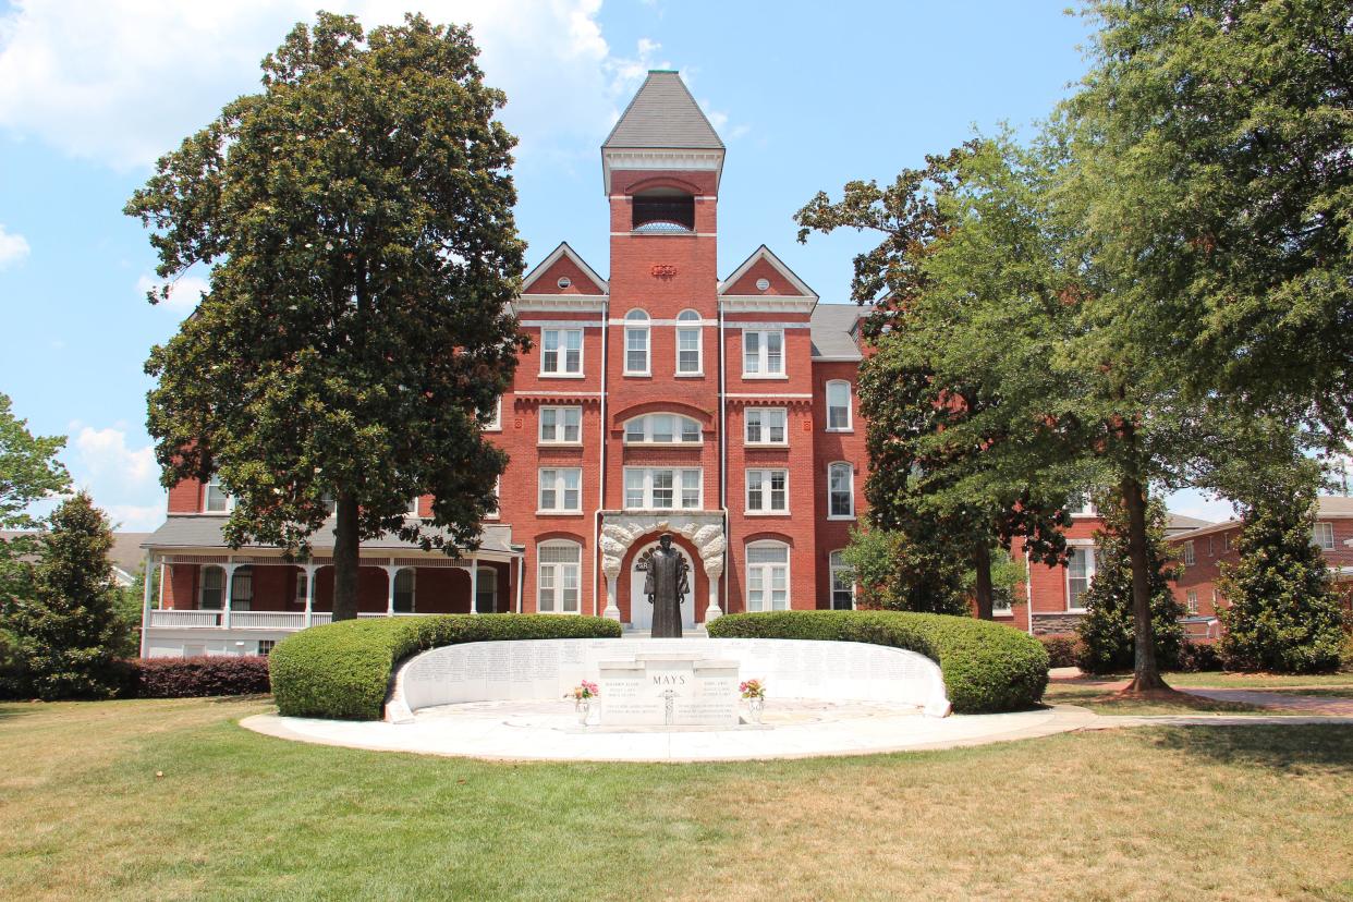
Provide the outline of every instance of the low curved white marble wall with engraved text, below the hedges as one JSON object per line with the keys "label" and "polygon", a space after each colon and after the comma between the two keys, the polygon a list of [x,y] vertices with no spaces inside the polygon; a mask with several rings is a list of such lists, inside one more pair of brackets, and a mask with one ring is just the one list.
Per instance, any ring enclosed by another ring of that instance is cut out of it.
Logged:
{"label": "low curved white marble wall with engraved text, below the hedges", "polygon": [[950,711],[939,665],[924,655],[863,642],[762,638],[559,638],[468,642],[405,661],[386,719],[457,702],[560,699],[595,680],[599,661],[679,652],[739,663],[740,679],[766,682],[767,698],[915,705],[932,717]]}

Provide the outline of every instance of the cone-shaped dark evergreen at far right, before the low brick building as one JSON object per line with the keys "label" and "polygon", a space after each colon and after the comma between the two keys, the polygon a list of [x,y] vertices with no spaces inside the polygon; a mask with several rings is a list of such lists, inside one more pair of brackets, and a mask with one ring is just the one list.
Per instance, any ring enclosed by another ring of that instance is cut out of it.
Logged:
{"label": "cone-shaped dark evergreen at far right, before the low brick building", "polygon": [[1311,491],[1277,492],[1246,504],[1239,563],[1222,565],[1218,610],[1227,669],[1312,672],[1339,665],[1342,611],[1325,553],[1312,542]]}

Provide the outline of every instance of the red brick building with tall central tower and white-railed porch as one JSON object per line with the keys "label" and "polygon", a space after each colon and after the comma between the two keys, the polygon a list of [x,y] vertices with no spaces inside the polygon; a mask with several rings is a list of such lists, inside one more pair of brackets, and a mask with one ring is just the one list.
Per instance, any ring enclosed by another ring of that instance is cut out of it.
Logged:
{"label": "red brick building with tall central tower and white-railed porch", "polygon": [[[560,243],[514,303],[532,350],[490,427],[511,462],[479,550],[367,542],[363,615],[598,614],[643,629],[636,563],[664,531],[691,564],[687,625],[854,604],[840,550],[867,461],[861,310],[819,303],[766,246],[720,268],[724,153],[676,73],[649,73],[602,145],[609,277]],[[147,653],[254,653],[329,619],[331,530],[292,565],[276,549],[229,549],[229,506],[191,480],[170,492],[146,544],[164,573]],[[1019,599],[1005,622],[1068,629],[1096,525],[1077,517],[1072,567],[1032,568],[1032,604]]]}

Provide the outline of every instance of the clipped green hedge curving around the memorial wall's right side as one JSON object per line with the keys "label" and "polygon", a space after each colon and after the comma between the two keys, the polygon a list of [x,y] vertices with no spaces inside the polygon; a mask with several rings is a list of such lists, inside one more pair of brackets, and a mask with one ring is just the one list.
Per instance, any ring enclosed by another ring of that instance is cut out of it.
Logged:
{"label": "clipped green hedge curving around the memorial wall's right side", "polygon": [[920,652],[939,664],[958,714],[1031,707],[1047,688],[1047,652],[1036,638],[970,617],[901,611],[728,614],[709,625],[709,634],[871,642]]}

